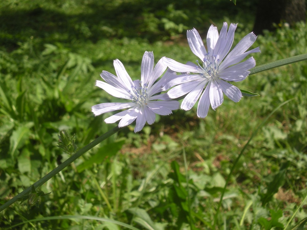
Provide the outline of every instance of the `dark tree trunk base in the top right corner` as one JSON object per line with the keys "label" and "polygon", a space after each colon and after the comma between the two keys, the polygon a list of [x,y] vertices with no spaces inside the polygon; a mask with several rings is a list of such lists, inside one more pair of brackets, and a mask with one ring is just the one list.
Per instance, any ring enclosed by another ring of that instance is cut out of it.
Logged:
{"label": "dark tree trunk base in the top right corner", "polygon": [[306,21],[306,0],[259,0],[253,32],[274,31],[273,23]]}

